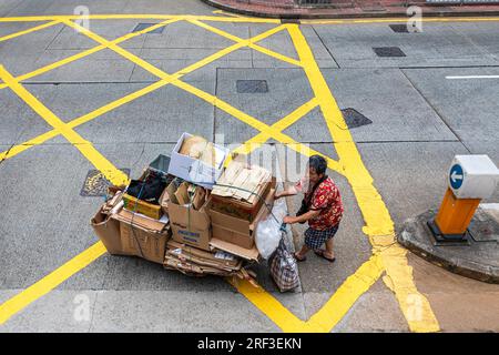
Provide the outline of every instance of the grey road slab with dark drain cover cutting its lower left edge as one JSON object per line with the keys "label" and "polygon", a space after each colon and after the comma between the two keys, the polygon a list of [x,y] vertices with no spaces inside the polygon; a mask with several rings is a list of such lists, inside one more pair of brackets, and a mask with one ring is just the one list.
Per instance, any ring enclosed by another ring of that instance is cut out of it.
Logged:
{"label": "grey road slab with dark drain cover cutting its lower left edge", "polygon": [[353,108],[373,124],[350,131],[356,142],[456,141],[398,69],[323,69],[340,109]]}

